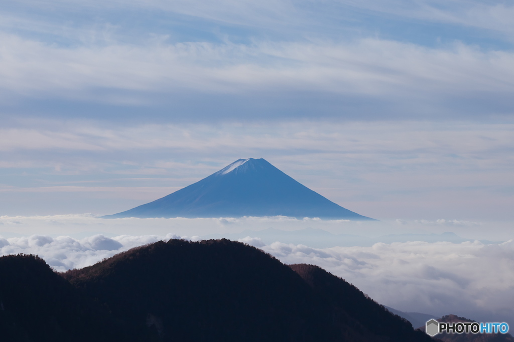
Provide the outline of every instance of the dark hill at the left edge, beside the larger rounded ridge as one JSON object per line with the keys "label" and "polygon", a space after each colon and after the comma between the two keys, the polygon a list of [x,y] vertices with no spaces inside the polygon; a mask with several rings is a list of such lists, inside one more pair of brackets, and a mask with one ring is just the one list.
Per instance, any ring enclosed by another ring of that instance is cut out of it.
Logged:
{"label": "dark hill at the left edge, beside the larger rounded ridge", "polygon": [[106,310],[33,255],[0,258],[2,341],[113,341],[123,338]]}

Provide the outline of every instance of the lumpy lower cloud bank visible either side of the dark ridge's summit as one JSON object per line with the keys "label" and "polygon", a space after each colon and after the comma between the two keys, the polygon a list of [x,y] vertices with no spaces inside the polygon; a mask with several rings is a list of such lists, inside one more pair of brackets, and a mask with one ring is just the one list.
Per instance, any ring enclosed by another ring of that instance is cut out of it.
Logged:
{"label": "lumpy lower cloud bank visible either side of the dark ridge's summit", "polygon": [[[38,254],[55,270],[66,271],[86,267],[134,246],[170,238],[180,236],[30,235],[0,238],[0,255]],[[257,246],[284,263],[317,264],[378,302],[399,310],[514,322],[512,240],[489,245],[478,241],[413,241],[325,249],[282,242],[266,245],[260,238],[250,236],[240,241]]]}

